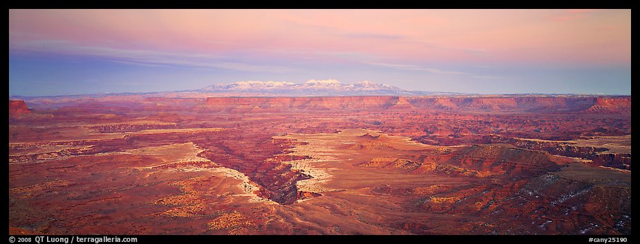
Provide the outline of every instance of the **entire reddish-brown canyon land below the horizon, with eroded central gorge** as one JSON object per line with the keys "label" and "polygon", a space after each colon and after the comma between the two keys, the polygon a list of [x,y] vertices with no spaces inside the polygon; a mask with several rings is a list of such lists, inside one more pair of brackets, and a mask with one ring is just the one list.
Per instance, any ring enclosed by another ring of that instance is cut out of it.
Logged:
{"label": "entire reddish-brown canyon land below the horizon, with eroded central gorge", "polygon": [[9,103],[10,234],[630,234],[630,96]]}

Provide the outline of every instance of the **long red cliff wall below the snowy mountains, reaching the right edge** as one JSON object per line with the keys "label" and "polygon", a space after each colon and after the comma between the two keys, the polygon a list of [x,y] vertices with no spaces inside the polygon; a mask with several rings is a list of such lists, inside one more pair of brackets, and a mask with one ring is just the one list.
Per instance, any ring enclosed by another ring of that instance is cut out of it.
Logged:
{"label": "long red cliff wall below the snowy mountains, reaching the right edge", "polygon": [[627,113],[631,97],[496,96],[496,97],[400,97],[400,96],[303,96],[209,97],[211,110],[227,112],[278,112],[287,110],[413,109],[445,111],[584,112]]}

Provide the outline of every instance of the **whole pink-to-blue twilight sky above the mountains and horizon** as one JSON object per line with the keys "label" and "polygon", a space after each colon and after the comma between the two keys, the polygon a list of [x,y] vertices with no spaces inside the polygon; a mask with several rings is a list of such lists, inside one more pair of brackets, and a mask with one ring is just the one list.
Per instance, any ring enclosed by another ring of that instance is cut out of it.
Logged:
{"label": "whole pink-to-blue twilight sky above the mountains and horizon", "polygon": [[631,94],[631,10],[9,10],[9,94],[337,79]]}

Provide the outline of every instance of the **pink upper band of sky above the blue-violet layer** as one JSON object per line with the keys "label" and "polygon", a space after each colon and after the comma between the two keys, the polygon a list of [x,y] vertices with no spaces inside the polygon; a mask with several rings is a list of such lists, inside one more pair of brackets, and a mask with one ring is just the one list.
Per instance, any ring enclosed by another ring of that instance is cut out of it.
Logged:
{"label": "pink upper band of sky above the blue-violet layer", "polygon": [[[10,48],[62,54],[630,63],[630,10],[10,10]],[[46,48],[49,48],[48,50]],[[111,53],[109,53],[111,52]]]}

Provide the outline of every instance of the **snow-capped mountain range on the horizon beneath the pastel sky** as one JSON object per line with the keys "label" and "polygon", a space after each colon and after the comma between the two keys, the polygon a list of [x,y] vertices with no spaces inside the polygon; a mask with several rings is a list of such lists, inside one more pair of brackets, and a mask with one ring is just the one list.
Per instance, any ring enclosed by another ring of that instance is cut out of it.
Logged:
{"label": "snow-capped mountain range on the horizon beneath the pastel sky", "polygon": [[296,84],[284,81],[238,81],[229,84],[209,85],[206,92],[261,92],[279,95],[397,95],[411,94],[392,85],[371,81],[344,84],[335,79],[314,80]]}

